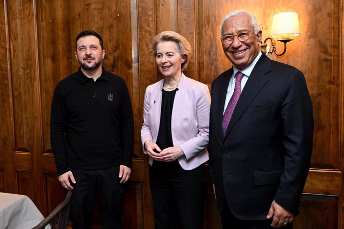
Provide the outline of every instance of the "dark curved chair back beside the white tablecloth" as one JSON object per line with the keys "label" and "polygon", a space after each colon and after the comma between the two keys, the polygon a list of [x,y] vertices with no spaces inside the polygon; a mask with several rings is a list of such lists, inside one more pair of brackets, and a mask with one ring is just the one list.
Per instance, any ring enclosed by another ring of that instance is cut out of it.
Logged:
{"label": "dark curved chair back beside the white tablecloth", "polygon": [[66,229],[68,224],[68,215],[69,215],[69,201],[72,197],[72,191],[68,191],[66,199],[62,201],[57,207],[52,210],[52,212],[47,216],[42,222],[40,222],[36,227],[32,229],[44,229],[45,226],[51,223],[51,228],[55,229],[56,217],[60,214],[58,219],[57,229]]}

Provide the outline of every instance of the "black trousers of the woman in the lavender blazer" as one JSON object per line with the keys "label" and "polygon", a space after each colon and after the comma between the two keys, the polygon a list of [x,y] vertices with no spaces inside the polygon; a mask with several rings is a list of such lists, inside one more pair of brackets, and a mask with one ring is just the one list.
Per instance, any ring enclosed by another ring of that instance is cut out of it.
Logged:
{"label": "black trousers of the woman in the lavender blazer", "polygon": [[204,165],[187,171],[178,161],[154,161],[150,181],[155,229],[202,228]]}

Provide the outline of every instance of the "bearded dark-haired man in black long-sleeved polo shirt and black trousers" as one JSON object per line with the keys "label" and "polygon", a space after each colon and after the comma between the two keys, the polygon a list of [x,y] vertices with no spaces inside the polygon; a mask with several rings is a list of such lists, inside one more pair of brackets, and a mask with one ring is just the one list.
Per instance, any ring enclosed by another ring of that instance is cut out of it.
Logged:
{"label": "bearded dark-haired man in black long-sleeved polo shirt and black trousers", "polygon": [[75,39],[79,71],[61,80],[51,105],[51,146],[58,180],[73,191],[73,229],[90,229],[95,196],[104,229],[121,228],[123,186],[131,174],[133,112],[122,78],[102,67],[102,37]]}

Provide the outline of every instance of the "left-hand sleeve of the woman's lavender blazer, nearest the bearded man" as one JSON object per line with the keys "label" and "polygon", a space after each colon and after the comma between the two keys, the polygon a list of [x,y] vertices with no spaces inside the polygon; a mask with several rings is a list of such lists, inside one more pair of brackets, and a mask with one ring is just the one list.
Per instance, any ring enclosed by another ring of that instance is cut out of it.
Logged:
{"label": "left-hand sleeve of the woman's lavender blazer, nearest the bearded man", "polygon": [[145,142],[147,140],[150,140],[153,142],[153,136],[151,132],[151,123],[150,123],[150,118],[149,118],[150,95],[151,93],[149,92],[149,88],[147,88],[146,93],[145,93],[145,102],[144,102],[144,111],[143,111],[144,123],[142,124],[142,128],[141,128],[141,142],[142,142],[144,153],[146,154],[147,154],[147,150],[145,147]]}

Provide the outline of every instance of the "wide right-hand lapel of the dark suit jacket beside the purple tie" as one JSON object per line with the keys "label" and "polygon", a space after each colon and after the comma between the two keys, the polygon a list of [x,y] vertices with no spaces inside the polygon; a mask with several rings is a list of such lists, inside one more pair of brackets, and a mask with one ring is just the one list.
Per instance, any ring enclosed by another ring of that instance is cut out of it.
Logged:
{"label": "wide right-hand lapel of the dark suit jacket beside the purple tie", "polygon": [[264,85],[269,81],[269,78],[266,77],[265,74],[270,71],[271,60],[263,54],[256,63],[250,77],[245,84],[245,87],[229,121],[225,137],[228,136],[235,123],[240,119],[260,90],[262,90]]}

